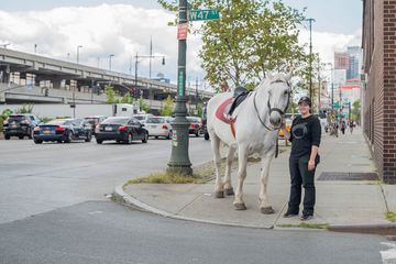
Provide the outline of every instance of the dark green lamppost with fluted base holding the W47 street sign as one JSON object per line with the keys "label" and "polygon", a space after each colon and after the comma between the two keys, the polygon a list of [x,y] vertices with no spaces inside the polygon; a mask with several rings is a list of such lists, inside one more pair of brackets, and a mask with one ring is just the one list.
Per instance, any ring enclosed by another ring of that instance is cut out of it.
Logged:
{"label": "dark green lamppost with fluted base holding the W47 street sign", "polygon": [[[187,0],[179,0],[179,26],[188,23],[187,21]],[[177,63],[177,97],[175,116],[172,121],[174,134],[172,139],[172,155],[168,163],[167,172],[180,173],[184,175],[193,175],[191,162],[188,156],[189,122],[187,114],[186,98],[186,51],[187,40],[180,37],[178,40],[178,63]]]}

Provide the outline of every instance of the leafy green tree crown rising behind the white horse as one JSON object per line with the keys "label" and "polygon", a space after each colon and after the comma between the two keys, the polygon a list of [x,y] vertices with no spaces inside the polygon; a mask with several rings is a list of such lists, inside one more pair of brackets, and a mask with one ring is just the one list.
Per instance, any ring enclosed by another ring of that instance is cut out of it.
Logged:
{"label": "leafy green tree crown rising behind the white horse", "polygon": [[[158,0],[163,8],[177,10],[176,1]],[[255,87],[266,72],[298,68],[307,61],[298,44],[302,13],[282,1],[191,0],[194,9],[217,9],[221,20],[202,24],[199,57],[206,79],[216,89],[231,80],[234,86]]]}

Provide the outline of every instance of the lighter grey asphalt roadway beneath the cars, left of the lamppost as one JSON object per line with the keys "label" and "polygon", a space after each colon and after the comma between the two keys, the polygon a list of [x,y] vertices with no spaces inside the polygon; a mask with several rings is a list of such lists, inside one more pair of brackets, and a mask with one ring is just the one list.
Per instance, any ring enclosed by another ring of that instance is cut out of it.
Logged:
{"label": "lighter grey asphalt roadway beneath the cars, left of the lamppost", "polygon": [[[211,158],[210,142],[190,138],[193,164]],[[0,140],[0,223],[88,200],[107,200],[117,185],[166,167],[170,141],[147,144],[44,143]]]}

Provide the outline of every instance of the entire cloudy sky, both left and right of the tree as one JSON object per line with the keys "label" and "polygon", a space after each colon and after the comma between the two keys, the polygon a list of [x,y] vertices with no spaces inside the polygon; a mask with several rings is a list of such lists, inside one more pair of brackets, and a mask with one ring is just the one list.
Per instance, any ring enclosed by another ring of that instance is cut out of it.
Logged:
{"label": "entire cloudy sky, both left and right of the tree", "polygon": [[[361,45],[361,0],[284,0],[316,21],[312,24],[314,52],[323,62],[333,61],[334,51]],[[174,14],[164,11],[155,0],[1,0],[0,45],[58,59],[76,62],[77,46],[80,63],[134,74],[134,56],[153,53],[152,76],[164,74],[175,81],[177,69],[176,29],[168,26]],[[308,26],[308,24],[307,24]],[[308,43],[309,32],[301,29],[300,43]],[[204,79],[197,56],[201,41],[189,35],[187,44],[187,76],[193,85]],[[67,55],[69,54],[69,55]],[[162,65],[161,56],[165,56]],[[132,66],[132,67],[131,67]],[[139,76],[148,77],[148,59],[141,58]]]}

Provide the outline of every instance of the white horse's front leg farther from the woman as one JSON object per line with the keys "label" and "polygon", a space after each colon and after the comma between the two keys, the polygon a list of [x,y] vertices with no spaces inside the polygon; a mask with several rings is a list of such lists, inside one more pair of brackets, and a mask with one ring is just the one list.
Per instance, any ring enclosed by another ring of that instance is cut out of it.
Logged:
{"label": "white horse's front leg farther from the woman", "polygon": [[234,199],[234,208],[237,210],[246,210],[243,201],[243,182],[246,178],[248,150],[245,146],[238,147],[238,187]]}

